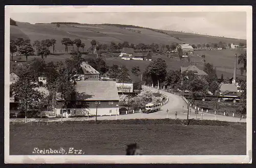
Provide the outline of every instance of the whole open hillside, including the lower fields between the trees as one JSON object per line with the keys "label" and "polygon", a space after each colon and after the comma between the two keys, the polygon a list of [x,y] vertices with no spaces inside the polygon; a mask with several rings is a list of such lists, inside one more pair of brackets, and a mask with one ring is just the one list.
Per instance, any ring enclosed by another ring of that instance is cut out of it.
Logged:
{"label": "whole open hillside, including the lower fields between the trees", "polygon": [[[61,39],[63,37],[69,37],[71,40],[76,38],[81,39],[82,43],[86,44],[84,47],[84,51],[86,51],[91,46],[91,41],[96,40],[100,43],[108,43],[111,42],[124,42],[128,41],[129,43],[158,43],[158,44],[171,44],[173,42],[176,43],[190,43],[190,44],[198,44],[198,43],[219,43],[219,41],[226,43],[246,43],[246,40],[239,39],[229,39],[222,37],[211,37],[205,35],[197,35],[197,34],[189,34],[189,33],[181,33],[181,32],[172,32],[172,31],[162,31],[166,32],[159,33],[159,30],[152,29],[143,29],[141,27],[125,27],[125,29],[119,25],[110,25],[110,24],[101,24],[101,25],[88,25],[88,24],[60,24],[60,27],[56,27],[55,24],[29,24],[16,22],[17,26],[10,25],[10,38],[15,39],[17,37],[29,38],[32,42],[35,40],[42,39],[56,39],[57,43],[55,44],[55,49],[57,52],[64,52],[65,46],[61,45]],[[176,39],[178,37],[179,39]],[[69,47],[69,50],[71,47]],[[52,50],[52,47],[50,47]],[[205,60],[208,63],[213,64],[217,68],[217,75],[221,77],[221,74],[224,75],[224,78],[231,78],[233,76],[233,65],[234,65],[234,54],[241,51],[238,50],[201,50],[195,51],[195,54],[199,56],[205,54]],[[64,61],[68,55],[49,55],[46,61]],[[37,56],[34,56],[38,58]],[[34,58],[30,57],[30,59]],[[90,57],[89,55],[84,55],[84,57]],[[183,59],[182,62],[178,58],[167,58],[166,55],[154,54],[153,60],[158,57],[163,58],[168,66],[168,69],[179,70],[181,66],[188,66],[189,63],[187,59]],[[14,57],[16,59],[16,57]],[[150,62],[146,61],[124,61],[120,58],[104,58],[106,64],[108,66],[112,66],[113,64],[118,64],[119,66],[125,65],[128,69],[131,69],[133,66],[139,66],[141,71],[144,71],[146,66],[150,64]],[[194,55],[191,57],[191,62],[194,62],[198,68],[203,69],[203,65],[201,64],[201,58]],[[246,78],[246,74],[243,76],[240,75],[240,70],[238,66],[238,77]],[[139,81],[141,76],[135,76],[131,74],[134,81]]]}

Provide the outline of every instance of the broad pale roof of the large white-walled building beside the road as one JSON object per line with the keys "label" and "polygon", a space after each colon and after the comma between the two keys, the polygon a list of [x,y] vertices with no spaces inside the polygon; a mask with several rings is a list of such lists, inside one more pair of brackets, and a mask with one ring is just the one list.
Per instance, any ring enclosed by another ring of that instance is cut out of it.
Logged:
{"label": "broad pale roof of the large white-walled building beside the road", "polygon": [[116,81],[76,81],[77,100],[119,100]]}

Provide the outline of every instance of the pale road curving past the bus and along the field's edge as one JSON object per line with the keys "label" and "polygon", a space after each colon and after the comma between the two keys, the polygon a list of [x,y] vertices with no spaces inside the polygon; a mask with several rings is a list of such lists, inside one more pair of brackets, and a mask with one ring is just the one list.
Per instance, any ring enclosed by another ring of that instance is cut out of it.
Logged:
{"label": "pale road curving past the bus and along the field's edge", "polygon": [[[145,86],[143,86],[145,87]],[[150,87],[147,87],[150,88]],[[153,92],[157,92],[158,90],[155,88],[150,88]],[[174,95],[172,93],[168,93],[160,90],[162,94],[169,98],[169,101],[161,107],[161,110],[150,113],[150,114],[128,114],[128,115],[119,115],[119,116],[102,116],[97,117],[97,120],[127,120],[127,119],[175,119],[175,111],[177,111],[177,119],[187,119],[187,104],[182,99],[182,97],[178,95]],[[168,109],[168,114],[166,114],[166,110]],[[203,114],[203,116],[201,116]],[[199,111],[199,114],[195,114],[195,109],[191,108],[191,113],[189,114],[189,119],[199,119],[199,120],[219,120],[219,121],[228,121],[228,122],[246,122],[246,119],[242,119],[237,117],[228,117],[221,115],[214,115],[208,113],[202,113]],[[81,121],[81,120],[95,120],[95,117],[88,118],[63,118],[63,121]],[[18,121],[17,119],[10,119],[10,121]],[[38,121],[38,119],[29,119],[29,121]],[[52,121],[60,121],[60,119],[54,119]]]}

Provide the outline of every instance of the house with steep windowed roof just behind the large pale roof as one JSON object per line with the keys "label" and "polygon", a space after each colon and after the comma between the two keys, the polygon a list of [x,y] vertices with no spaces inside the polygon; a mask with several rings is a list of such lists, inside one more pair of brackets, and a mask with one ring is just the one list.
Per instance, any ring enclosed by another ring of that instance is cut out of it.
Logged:
{"label": "house with steep windowed roof just behind the large pale roof", "polygon": [[95,70],[91,65],[86,62],[81,63],[80,76],[78,80],[86,80],[86,79],[99,79],[100,73]]}

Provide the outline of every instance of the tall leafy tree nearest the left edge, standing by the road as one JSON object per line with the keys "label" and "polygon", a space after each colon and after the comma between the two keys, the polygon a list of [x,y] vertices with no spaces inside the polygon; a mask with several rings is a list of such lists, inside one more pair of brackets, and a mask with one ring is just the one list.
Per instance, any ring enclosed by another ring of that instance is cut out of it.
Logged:
{"label": "tall leafy tree nearest the left edge, standing by the road", "polygon": [[25,123],[27,123],[29,107],[34,107],[39,99],[42,98],[42,95],[35,90],[37,87],[35,84],[35,76],[30,72],[28,65],[23,67],[18,75],[18,81],[10,86],[10,90],[17,96],[19,108],[25,111]]}

